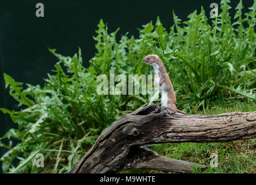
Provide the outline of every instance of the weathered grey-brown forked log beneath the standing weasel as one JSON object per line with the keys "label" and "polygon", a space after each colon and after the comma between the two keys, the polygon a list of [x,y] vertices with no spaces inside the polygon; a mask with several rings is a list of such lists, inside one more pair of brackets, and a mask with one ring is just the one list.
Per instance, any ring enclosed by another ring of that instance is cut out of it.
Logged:
{"label": "weathered grey-brown forked log beneath the standing weasel", "polygon": [[159,156],[153,143],[229,142],[256,136],[256,112],[214,116],[167,114],[149,105],[123,116],[104,129],[95,145],[70,173],[113,173],[131,168],[191,172],[207,166]]}

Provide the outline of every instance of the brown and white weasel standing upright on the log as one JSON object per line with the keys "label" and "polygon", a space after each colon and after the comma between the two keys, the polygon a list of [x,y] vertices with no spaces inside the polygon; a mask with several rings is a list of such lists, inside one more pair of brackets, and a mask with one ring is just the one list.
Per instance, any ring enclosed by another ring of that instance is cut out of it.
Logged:
{"label": "brown and white weasel standing upright on the log", "polygon": [[171,80],[165,71],[164,64],[161,59],[156,55],[149,54],[143,58],[142,61],[146,64],[152,65],[154,68],[154,87],[160,87],[162,107],[167,110],[169,114],[175,112],[187,114],[176,108],[174,87],[172,86]]}

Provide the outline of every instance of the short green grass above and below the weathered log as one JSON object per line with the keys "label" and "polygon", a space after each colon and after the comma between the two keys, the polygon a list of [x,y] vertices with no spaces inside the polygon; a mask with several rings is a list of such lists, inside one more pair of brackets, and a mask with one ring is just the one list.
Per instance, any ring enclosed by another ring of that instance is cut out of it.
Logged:
{"label": "short green grass above and below the weathered log", "polygon": [[[244,100],[244,101],[243,101]],[[196,114],[221,114],[228,112],[254,112],[256,105],[246,99],[215,101]],[[193,112],[192,112],[193,113]],[[226,143],[164,143],[152,145],[161,156],[209,166],[193,173],[256,173],[256,139],[236,140]],[[218,154],[218,168],[211,168],[211,154]],[[145,169],[131,169],[122,173],[166,173]]]}

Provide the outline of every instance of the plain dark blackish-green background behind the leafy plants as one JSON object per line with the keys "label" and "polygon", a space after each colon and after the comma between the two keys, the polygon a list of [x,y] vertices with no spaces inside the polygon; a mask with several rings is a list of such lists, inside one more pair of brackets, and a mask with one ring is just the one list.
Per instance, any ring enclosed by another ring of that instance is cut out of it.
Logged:
{"label": "plain dark blackish-green background behind the leafy plants", "polygon": [[[44,4],[44,16],[36,17],[37,3]],[[210,4],[220,0],[179,1],[81,1],[81,0],[0,0],[0,108],[17,109],[17,102],[5,89],[3,72],[15,80],[30,84],[44,84],[47,73],[51,73],[57,59],[48,51],[56,49],[64,56],[73,56],[82,50],[84,66],[95,53],[95,29],[100,18],[107,23],[109,32],[120,27],[117,39],[129,32],[138,38],[138,28],[149,21],[156,22],[157,16],[169,30],[172,10],[185,21],[194,10],[210,16]],[[239,0],[232,0],[231,16]],[[253,0],[244,0],[245,11]],[[221,9],[219,8],[219,13]],[[0,137],[8,129],[16,127],[7,114],[0,112]],[[0,148],[0,157],[6,149]],[[1,168],[0,168],[1,172]]]}

